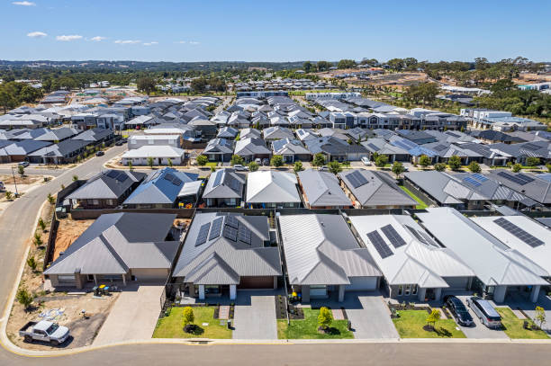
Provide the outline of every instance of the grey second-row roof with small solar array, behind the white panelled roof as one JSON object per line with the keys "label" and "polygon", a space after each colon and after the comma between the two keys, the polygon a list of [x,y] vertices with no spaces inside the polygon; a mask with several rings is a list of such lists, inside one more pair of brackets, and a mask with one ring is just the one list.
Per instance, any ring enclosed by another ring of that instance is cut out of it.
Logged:
{"label": "grey second-row roof with small solar array, behind the white panelled roof", "polygon": [[[355,174],[362,175],[366,179],[366,183],[355,187],[350,182],[350,179],[354,180],[353,176]],[[340,172],[339,178],[347,185],[348,190],[354,194],[362,206],[417,205],[417,201],[413,200],[406,192],[403,192],[389,174],[366,169],[351,169]]]}

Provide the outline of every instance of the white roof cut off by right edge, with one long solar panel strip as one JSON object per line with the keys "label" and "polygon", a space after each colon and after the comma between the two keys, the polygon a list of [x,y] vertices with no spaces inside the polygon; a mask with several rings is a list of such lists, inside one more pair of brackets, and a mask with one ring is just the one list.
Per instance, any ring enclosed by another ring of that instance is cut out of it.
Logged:
{"label": "white roof cut off by right edge, with one long solar panel strip", "polygon": [[526,216],[504,216],[502,218],[507,219],[511,224],[527,231],[530,235],[543,241],[545,244],[535,247],[526,244],[520,240],[519,237],[515,237],[509,231],[496,224],[495,220],[500,219],[499,217],[490,216],[472,218],[472,220],[478,226],[492,234],[492,236],[500,239],[501,243],[507,245],[510,249],[519,251],[519,253],[527,256],[531,261],[537,263],[537,265],[551,273],[551,230]]}

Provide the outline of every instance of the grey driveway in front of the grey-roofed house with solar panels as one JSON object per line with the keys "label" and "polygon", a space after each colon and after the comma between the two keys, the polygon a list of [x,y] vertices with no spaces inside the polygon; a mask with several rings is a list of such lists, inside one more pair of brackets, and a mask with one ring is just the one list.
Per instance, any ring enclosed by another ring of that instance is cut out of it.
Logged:
{"label": "grey driveway in front of the grey-roofed house with solar panels", "polygon": [[234,339],[277,339],[274,291],[238,291],[233,323]]}

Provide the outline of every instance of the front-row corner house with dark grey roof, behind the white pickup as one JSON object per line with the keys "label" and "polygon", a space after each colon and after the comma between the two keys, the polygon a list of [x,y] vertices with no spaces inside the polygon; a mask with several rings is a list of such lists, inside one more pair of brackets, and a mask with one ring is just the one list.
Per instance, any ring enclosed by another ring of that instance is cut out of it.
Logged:
{"label": "front-row corner house with dark grey roof, behind the white pickup", "polygon": [[[44,275],[55,288],[105,282],[167,281],[180,245],[173,214],[111,213],[100,216],[68,249],[50,263]],[[139,304],[136,304],[139,306]]]}

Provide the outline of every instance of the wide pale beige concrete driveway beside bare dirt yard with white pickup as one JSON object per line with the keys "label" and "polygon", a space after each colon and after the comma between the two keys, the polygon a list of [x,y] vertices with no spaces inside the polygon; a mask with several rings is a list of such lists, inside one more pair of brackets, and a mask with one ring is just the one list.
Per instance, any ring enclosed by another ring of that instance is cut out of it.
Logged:
{"label": "wide pale beige concrete driveway beside bare dirt yard with white pickup", "polygon": [[151,338],[157,325],[163,290],[164,286],[160,285],[129,285],[124,288],[94,344]]}

